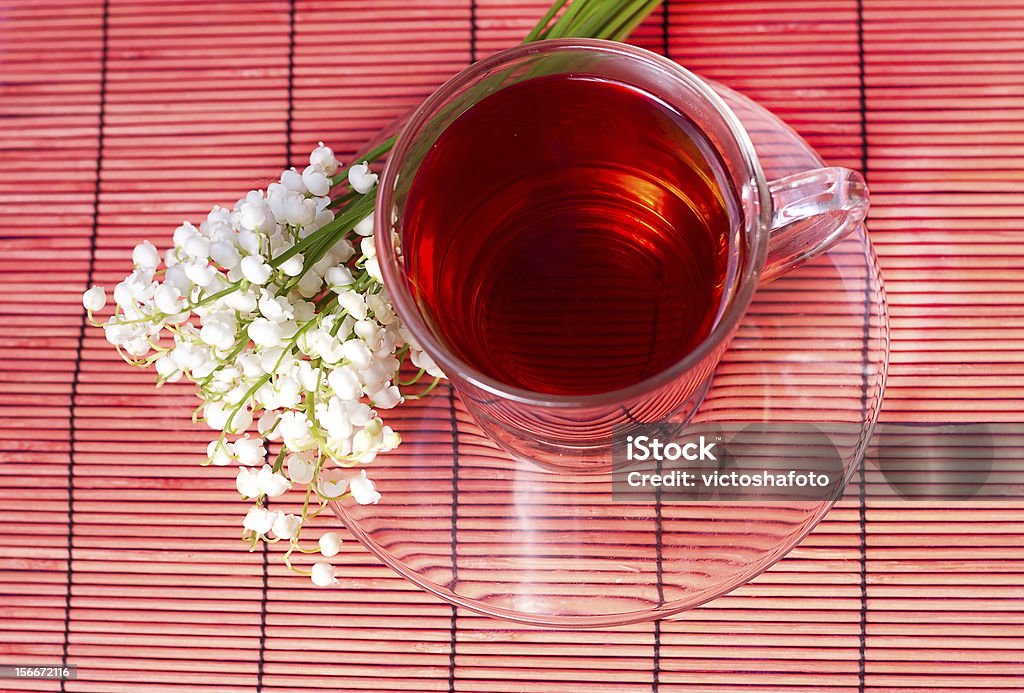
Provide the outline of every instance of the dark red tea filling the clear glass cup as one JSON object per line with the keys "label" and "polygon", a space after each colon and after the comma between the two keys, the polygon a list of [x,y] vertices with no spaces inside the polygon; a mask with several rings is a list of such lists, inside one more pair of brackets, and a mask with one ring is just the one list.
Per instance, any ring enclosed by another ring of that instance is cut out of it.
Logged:
{"label": "dark red tea filling the clear glass cup", "polygon": [[637,383],[711,331],[729,274],[723,167],[685,116],[586,76],[530,79],[452,123],[410,187],[403,250],[431,328],[507,385]]}

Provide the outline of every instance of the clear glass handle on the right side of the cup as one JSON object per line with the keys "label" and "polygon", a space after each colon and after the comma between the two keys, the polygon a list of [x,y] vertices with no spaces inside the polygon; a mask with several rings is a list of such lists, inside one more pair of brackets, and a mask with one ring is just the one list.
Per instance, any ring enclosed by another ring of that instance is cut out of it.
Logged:
{"label": "clear glass handle on the right side of the cup", "polygon": [[867,216],[867,185],[856,171],[813,169],[768,183],[772,227],[765,284],[821,255]]}

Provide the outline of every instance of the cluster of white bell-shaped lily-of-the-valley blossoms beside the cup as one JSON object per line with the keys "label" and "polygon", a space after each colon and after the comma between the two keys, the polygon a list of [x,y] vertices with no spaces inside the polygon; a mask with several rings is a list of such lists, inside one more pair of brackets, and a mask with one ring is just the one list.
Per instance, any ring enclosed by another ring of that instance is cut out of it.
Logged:
{"label": "cluster of white bell-shaped lily-of-the-valley blossoms beside the cup", "polygon": [[[90,319],[129,362],[153,363],[160,383],[196,383],[197,418],[220,431],[209,463],[238,464],[238,490],[254,502],[244,536],[251,547],[290,542],[289,556],[328,501],[380,500],[366,471],[351,468],[400,442],[378,409],[403,400],[402,360],[435,383],[442,377],[383,287],[370,211],[377,176],[366,163],[339,168],[322,142],[302,172],[285,171],[230,210],[215,207],[199,227],[183,223],[165,253],[140,243],[103,323],[92,317],[106,304],[103,289],[83,295]],[[279,442],[271,464],[267,445]],[[306,486],[301,515],[265,507],[295,485]],[[324,556],[338,553],[330,536],[321,539]],[[295,569],[318,586],[335,581],[329,562]]]}

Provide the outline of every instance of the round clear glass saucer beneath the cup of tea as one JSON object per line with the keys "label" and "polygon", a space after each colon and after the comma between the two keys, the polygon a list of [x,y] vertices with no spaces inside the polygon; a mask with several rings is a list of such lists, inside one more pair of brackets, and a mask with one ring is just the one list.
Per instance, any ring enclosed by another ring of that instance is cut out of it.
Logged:
{"label": "round clear glass saucer beneath the cup of tea", "polygon": [[[778,118],[715,88],[745,125],[769,179],[822,165]],[[878,419],[888,324],[861,226],[758,291],[691,426],[813,423],[849,480]],[[497,448],[443,385],[387,420],[403,442],[368,468],[382,500],[333,503],[334,513],[424,590],[524,623],[609,626],[697,606],[779,560],[834,503],[616,501],[610,476],[553,472]],[[785,463],[818,442],[766,437],[758,454]]]}

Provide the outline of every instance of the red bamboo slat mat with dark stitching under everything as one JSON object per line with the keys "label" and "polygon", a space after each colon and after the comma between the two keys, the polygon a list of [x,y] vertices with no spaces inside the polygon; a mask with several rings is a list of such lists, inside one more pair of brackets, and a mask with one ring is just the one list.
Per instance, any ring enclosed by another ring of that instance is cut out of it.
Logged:
{"label": "red bamboo slat mat with dark stitching under everything", "polygon": [[[869,468],[774,568],[658,624],[508,625],[355,542],[345,589],[317,591],[244,550],[188,388],[156,392],[83,329],[81,292],[140,239],[316,140],[353,153],[547,4],[0,4],[0,664],[79,665],[0,690],[1024,690],[1019,501],[894,501]],[[635,41],[866,173],[892,313],[881,435],[981,422],[1019,456],[1024,3],[673,1]]]}

